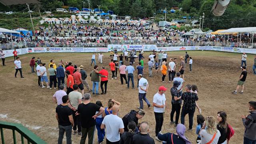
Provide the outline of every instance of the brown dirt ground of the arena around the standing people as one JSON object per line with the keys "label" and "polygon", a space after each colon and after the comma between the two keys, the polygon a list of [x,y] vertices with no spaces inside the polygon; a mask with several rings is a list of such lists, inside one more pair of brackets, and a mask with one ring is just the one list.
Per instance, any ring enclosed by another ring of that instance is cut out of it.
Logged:
{"label": "brown dirt ground of the arena around the standing people", "polygon": [[[168,58],[178,58],[184,56],[185,52],[167,52]],[[218,111],[225,111],[228,115],[228,123],[234,128],[235,135],[231,138],[231,144],[241,144],[243,142],[244,126],[240,115],[248,114],[248,102],[255,100],[255,78],[252,75],[253,55],[248,54],[248,76],[246,79],[244,95],[234,95],[232,92],[236,88],[238,78],[241,73],[240,59],[241,54],[228,52],[212,52],[212,51],[189,51],[189,55],[193,58],[193,72],[188,72],[189,67],[186,64],[185,83],[196,84],[198,86],[198,104],[202,108],[203,116],[214,116],[216,118]],[[148,52],[144,56],[148,56]],[[103,64],[98,66],[106,66],[109,70],[108,58],[109,53],[104,53]],[[48,64],[50,59],[54,59],[57,63],[60,59],[73,62],[77,66],[84,65],[87,74],[90,74],[93,67],[90,66],[91,53],[45,53],[45,54],[25,54],[21,55],[23,65],[24,79],[14,78],[13,58],[6,58],[5,67],[0,66],[0,120],[8,122],[19,122],[40,136],[48,144],[56,144],[58,140],[58,123],[55,119],[56,104],[52,102],[52,95],[55,90],[38,88],[36,74],[31,74],[29,66],[30,59],[35,56],[40,57],[42,62]],[[96,60],[98,56],[96,56]],[[145,60],[144,63],[147,63]],[[180,62],[179,62],[180,63]],[[126,65],[128,62],[125,63]],[[135,66],[138,64],[136,60]],[[109,72],[111,73],[111,72]],[[137,77],[135,72],[134,83],[137,85]],[[118,74],[119,76],[119,74]],[[111,77],[111,76],[110,76]],[[109,78],[110,78],[109,77]],[[172,84],[162,83],[162,74],[153,71],[153,77],[148,77],[148,66],[145,64],[144,77],[149,82],[149,90],[147,94],[148,100],[153,101],[153,96],[161,85],[166,86],[166,98],[168,107],[171,110],[170,88]],[[168,77],[166,77],[167,80]],[[90,77],[87,78],[90,82]],[[66,83],[66,79],[65,79]],[[92,83],[90,82],[90,87]],[[130,110],[137,110],[138,89],[127,89],[126,85],[121,85],[120,78],[109,80],[108,93],[106,95],[92,96],[91,102],[100,100],[104,106],[107,105],[108,99],[115,99],[121,103],[119,116],[122,118]],[[144,106],[146,104],[144,102]],[[146,115],[140,120],[147,121],[150,124],[150,136],[154,138],[155,118],[153,107],[144,108]],[[186,131],[186,136],[193,144],[196,141],[195,127],[196,115],[194,114],[193,131]],[[175,127],[170,124],[170,112],[165,112],[165,130],[163,132],[175,132]],[[188,128],[188,115],[186,116],[185,126]],[[12,133],[10,130],[4,130],[6,144],[12,144]],[[19,137],[19,136],[16,136]],[[97,132],[95,133],[95,143],[97,142]],[[73,144],[79,144],[80,137],[72,135]],[[65,137],[64,142],[65,143]],[[156,144],[160,142],[156,141]]]}

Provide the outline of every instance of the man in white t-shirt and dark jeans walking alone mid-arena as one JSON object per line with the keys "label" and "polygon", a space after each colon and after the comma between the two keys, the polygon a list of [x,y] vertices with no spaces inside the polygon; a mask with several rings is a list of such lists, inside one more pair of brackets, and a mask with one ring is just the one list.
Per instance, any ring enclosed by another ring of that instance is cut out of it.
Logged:
{"label": "man in white t-shirt and dark jeans walking alone mid-arena", "polygon": [[[139,102],[140,102],[140,107],[139,109],[143,109],[143,100],[148,104],[148,108],[150,107],[150,102],[146,98],[146,94],[148,92],[148,80],[146,78],[142,77],[142,74],[138,75],[139,79]],[[142,100],[143,99],[143,100]]]}

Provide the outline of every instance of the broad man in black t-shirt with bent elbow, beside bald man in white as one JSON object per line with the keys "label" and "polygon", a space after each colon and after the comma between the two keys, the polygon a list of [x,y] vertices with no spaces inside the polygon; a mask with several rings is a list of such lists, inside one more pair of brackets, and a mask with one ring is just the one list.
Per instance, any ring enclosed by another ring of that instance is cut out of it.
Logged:
{"label": "broad man in black t-shirt with bent elbow, beside bald man in white", "polygon": [[[89,93],[84,94],[84,103],[79,104],[77,108],[77,114],[81,115],[82,124],[82,137],[80,144],[85,144],[85,140],[88,134],[88,144],[93,143],[95,124],[97,116],[104,112],[104,108],[97,104],[91,103],[91,95]],[[96,112],[98,112],[96,114]]]}

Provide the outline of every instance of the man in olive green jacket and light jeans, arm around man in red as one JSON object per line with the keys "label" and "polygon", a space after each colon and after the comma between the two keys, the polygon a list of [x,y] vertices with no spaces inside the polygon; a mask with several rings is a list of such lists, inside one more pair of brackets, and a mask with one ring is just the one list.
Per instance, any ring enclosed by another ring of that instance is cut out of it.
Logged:
{"label": "man in olive green jacket and light jeans, arm around man in red", "polygon": [[98,72],[98,69],[99,69],[98,66],[94,66],[94,70],[90,73],[90,77],[92,81],[92,94],[95,94],[95,91],[96,91],[96,96],[99,94],[98,93],[99,82],[100,82],[99,76],[106,78],[106,76],[96,73]]}

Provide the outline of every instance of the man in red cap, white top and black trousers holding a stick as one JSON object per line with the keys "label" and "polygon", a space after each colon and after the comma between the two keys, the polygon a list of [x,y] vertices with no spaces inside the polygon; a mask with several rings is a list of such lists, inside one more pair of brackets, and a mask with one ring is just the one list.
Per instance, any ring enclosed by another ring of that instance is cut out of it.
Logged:
{"label": "man in red cap, white top and black trousers holding a stick", "polygon": [[164,94],[166,90],[167,89],[164,86],[160,86],[158,88],[158,92],[154,95],[153,98],[154,114],[156,119],[156,140],[158,141],[160,141],[157,138],[158,133],[162,134],[161,130],[164,121],[164,108],[166,107],[167,112],[169,112]]}

